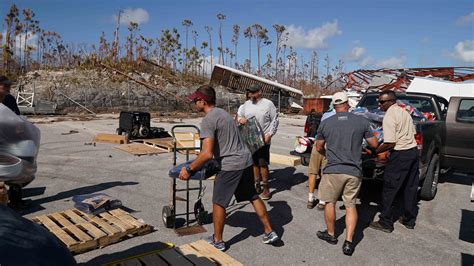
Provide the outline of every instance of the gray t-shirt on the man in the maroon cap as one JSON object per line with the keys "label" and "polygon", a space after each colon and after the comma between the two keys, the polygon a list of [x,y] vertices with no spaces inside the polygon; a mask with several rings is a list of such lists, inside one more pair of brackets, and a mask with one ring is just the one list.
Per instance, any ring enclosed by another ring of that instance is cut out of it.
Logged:
{"label": "gray t-shirt on the man in the maroon cap", "polygon": [[201,122],[201,138],[214,139],[214,157],[222,171],[245,169],[253,164],[234,119],[221,108],[214,107]]}

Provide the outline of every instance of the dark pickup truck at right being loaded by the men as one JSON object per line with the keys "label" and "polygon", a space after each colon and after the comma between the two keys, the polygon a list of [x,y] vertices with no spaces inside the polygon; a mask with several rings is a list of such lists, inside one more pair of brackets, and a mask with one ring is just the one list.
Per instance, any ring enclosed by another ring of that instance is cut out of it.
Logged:
{"label": "dark pickup truck at right being loaded by the men", "polygon": [[[430,121],[413,117],[420,155],[420,197],[432,200],[437,192],[441,168],[474,171],[474,138],[469,137],[474,134],[474,98],[453,97],[448,102],[442,97],[426,93],[399,93],[397,97],[432,116]],[[369,110],[378,108],[378,93],[366,93],[357,107]],[[306,122],[305,134],[314,136],[320,116],[311,114]],[[291,154],[299,155],[302,164],[308,165],[311,151]],[[363,179],[381,180],[385,164],[386,160],[383,159],[363,157]]]}

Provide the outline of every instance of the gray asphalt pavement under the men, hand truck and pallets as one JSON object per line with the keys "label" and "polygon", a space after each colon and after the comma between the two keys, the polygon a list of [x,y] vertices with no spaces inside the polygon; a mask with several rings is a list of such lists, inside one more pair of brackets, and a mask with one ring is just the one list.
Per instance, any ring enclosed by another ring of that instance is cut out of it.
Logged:
{"label": "gray asphalt pavement under the men, hand truck and pallets", "polygon": [[[200,121],[166,120],[154,119],[152,125],[170,129],[177,124],[198,125]],[[288,154],[295,136],[302,134],[303,124],[303,117],[282,117],[271,151]],[[120,199],[135,217],[156,230],[76,255],[77,262],[96,265],[149,251],[160,242],[181,245],[212,234],[212,224],[206,224],[207,233],[179,237],[162,223],[161,210],[168,203],[167,173],[172,166],[172,153],[139,157],[114,149],[113,144],[88,145],[97,133],[114,133],[116,118],[37,125],[42,132],[41,148],[37,178],[25,189],[31,203],[31,208],[24,211],[26,217],[73,208],[74,195],[103,192]],[[61,134],[70,130],[79,133]],[[183,157],[179,160],[183,161]],[[337,209],[339,244],[329,245],[316,237],[316,231],[325,228],[324,216],[316,209],[306,208],[307,168],[271,165],[270,170],[273,197],[266,206],[282,241],[274,246],[263,244],[262,226],[252,206],[233,204],[228,209],[224,240],[229,247],[227,254],[244,265],[472,265],[474,261],[474,202],[470,201],[473,176],[448,174],[439,185],[436,198],[419,203],[415,229],[396,223],[391,234],[368,228],[377,213],[381,186],[365,182],[361,195],[369,200],[358,206],[357,246],[354,255],[347,257],[341,250],[344,210]],[[213,184],[204,184],[203,203],[210,210]],[[341,205],[339,202],[337,206]]]}

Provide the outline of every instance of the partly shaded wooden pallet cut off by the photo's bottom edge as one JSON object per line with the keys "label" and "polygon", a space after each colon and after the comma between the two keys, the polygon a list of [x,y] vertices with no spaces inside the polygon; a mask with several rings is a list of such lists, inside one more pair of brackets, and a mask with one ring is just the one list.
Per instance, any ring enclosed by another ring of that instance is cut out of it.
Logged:
{"label": "partly shaded wooden pallet cut off by the photo's bottom edge", "polygon": [[131,258],[105,264],[105,266],[129,266],[129,265],[231,265],[240,266],[242,263],[233,259],[229,255],[215,249],[204,240],[199,240],[190,244],[182,245],[178,248],[166,248],[145,254],[133,256]]}

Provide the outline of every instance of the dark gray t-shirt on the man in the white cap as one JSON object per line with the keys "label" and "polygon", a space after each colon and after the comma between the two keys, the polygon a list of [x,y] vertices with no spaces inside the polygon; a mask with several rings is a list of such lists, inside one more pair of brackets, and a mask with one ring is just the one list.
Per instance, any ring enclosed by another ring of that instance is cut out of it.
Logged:
{"label": "dark gray t-shirt on the man in the white cap", "polygon": [[373,137],[367,119],[351,113],[336,113],[319,125],[317,139],[326,141],[325,174],[362,177],[362,141]]}

